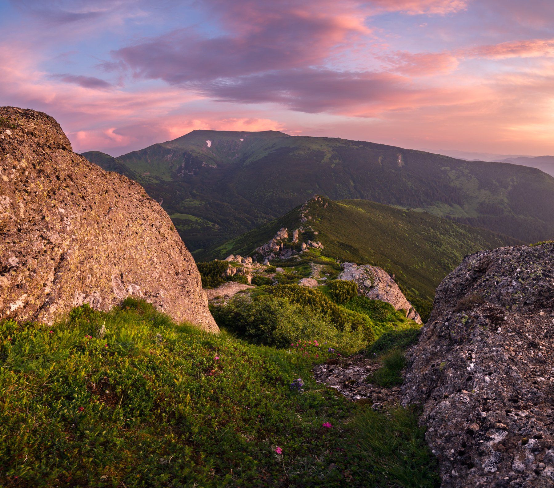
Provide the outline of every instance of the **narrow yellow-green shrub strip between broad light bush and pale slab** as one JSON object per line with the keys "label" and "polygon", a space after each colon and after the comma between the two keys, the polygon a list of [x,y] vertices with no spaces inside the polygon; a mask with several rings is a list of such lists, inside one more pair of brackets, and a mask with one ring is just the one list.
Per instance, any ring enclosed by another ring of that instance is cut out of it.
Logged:
{"label": "narrow yellow-green shrub strip between broad light bush and pale slab", "polygon": [[368,342],[375,340],[375,331],[370,317],[338,306],[320,290],[299,285],[276,285],[271,287],[268,292],[275,296],[284,297],[290,302],[309,306],[311,309],[329,317],[338,330],[347,327],[355,331],[361,328]]}

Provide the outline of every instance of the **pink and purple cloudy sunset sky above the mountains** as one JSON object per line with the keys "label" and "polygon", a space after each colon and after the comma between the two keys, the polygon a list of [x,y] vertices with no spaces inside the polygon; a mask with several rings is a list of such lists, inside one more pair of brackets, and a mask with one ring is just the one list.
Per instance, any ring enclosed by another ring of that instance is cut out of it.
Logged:
{"label": "pink and purple cloudy sunset sky above the mountains", "polygon": [[552,0],[0,0],[0,106],[76,152],[195,129],[554,154]]}

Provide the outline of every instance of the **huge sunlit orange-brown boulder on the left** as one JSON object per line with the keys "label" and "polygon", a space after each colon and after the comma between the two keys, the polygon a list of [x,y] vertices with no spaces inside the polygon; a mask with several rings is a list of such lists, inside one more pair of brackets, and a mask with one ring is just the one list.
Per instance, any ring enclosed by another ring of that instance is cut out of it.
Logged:
{"label": "huge sunlit orange-brown boulder on the left", "polygon": [[75,154],[48,115],[0,117],[0,319],[52,322],[133,295],[218,331],[191,254],[138,183]]}

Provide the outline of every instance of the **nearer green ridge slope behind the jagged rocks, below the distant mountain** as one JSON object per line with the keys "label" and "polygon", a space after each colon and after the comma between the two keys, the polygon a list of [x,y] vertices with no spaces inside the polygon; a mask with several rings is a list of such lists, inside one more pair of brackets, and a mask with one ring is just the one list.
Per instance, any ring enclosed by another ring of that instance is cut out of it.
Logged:
{"label": "nearer green ridge slope behind the jagged rocks, below the distant mountain", "polygon": [[[326,204],[326,207],[325,207]],[[285,227],[292,231],[310,225],[318,232],[321,254],[341,261],[381,266],[407,292],[409,299],[432,300],[435,288],[466,254],[505,245],[517,239],[458,224],[425,212],[403,210],[365,200],[323,202],[311,199],[300,222],[300,207],[283,217],[198,253],[197,259],[223,259],[234,253],[252,255]],[[305,237],[306,238],[306,237]]]}

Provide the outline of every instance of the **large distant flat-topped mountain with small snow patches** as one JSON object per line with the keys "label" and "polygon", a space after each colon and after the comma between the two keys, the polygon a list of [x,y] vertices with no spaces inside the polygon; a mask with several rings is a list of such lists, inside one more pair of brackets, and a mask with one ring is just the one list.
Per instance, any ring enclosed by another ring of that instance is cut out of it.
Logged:
{"label": "large distant flat-topped mountain with small snow patches", "polygon": [[423,209],[529,242],[554,237],[554,178],[531,167],[273,131],[193,131],[94,159],[134,174],[177,216],[192,250],[258,227],[314,193]]}

